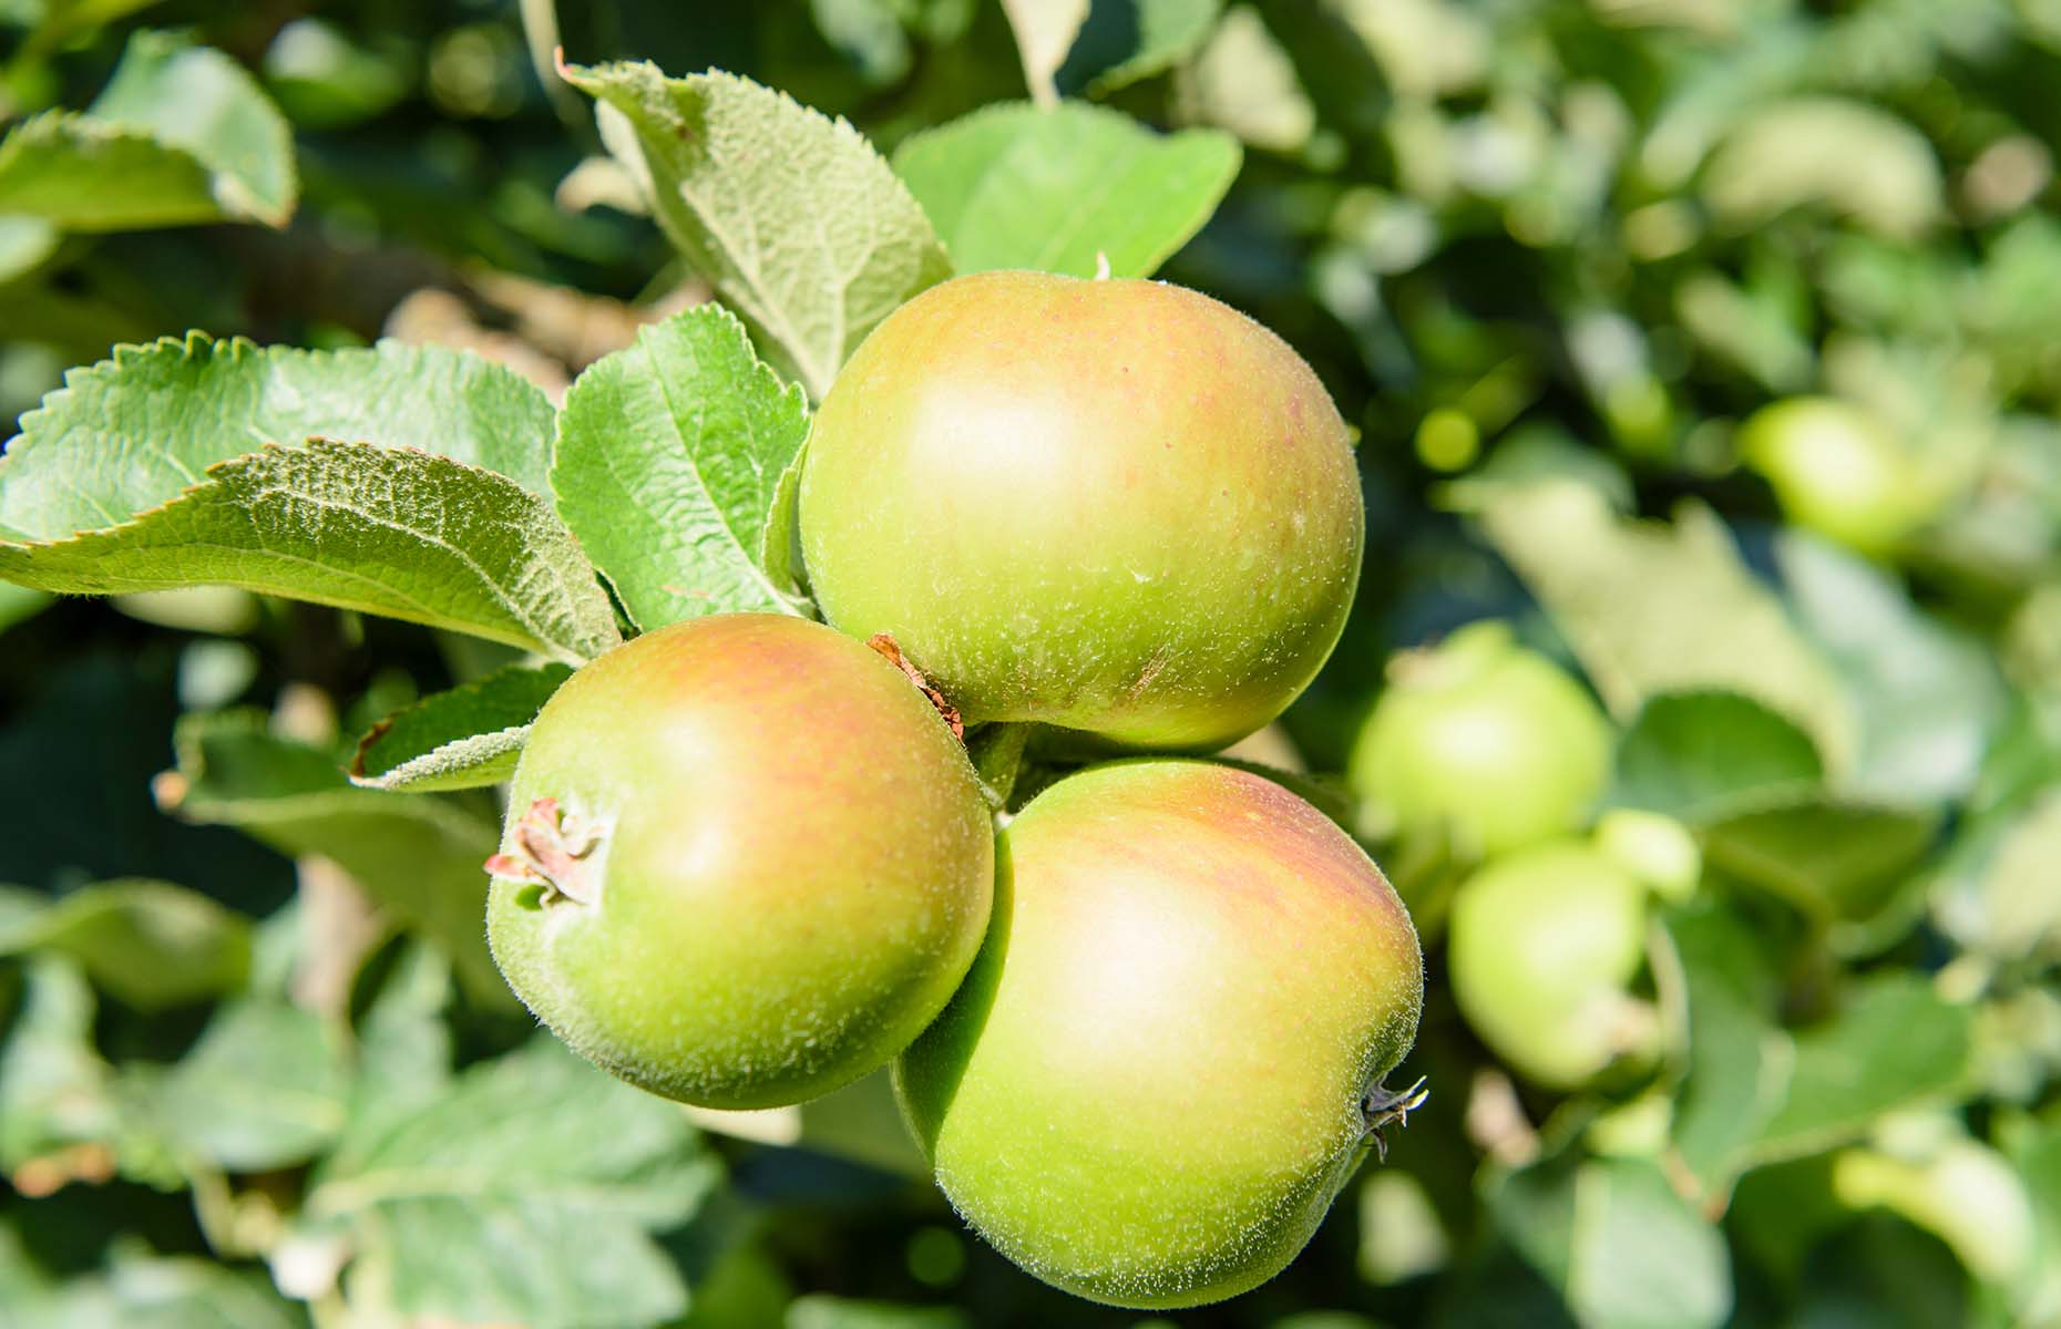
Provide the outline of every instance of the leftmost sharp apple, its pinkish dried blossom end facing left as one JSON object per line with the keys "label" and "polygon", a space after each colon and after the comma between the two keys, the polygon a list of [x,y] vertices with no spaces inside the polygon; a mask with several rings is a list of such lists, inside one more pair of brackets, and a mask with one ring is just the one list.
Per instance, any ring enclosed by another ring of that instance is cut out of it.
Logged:
{"label": "leftmost sharp apple, its pinkish dried blossom end facing left", "polygon": [[987,927],[965,748],[818,622],[723,614],[608,651],[538,715],[491,872],[538,799],[598,830],[589,898],[497,872],[495,960],[573,1051],[666,1098],[781,1106],[878,1069]]}

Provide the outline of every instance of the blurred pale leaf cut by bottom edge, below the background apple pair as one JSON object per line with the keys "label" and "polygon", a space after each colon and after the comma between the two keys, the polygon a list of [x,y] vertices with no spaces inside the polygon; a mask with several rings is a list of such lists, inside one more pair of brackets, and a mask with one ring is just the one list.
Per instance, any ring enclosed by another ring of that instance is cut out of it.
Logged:
{"label": "blurred pale leaf cut by bottom edge, below the background apple pair", "polygon": [[1494,1183],[1486,1201],[1583,1329],[1715,1329],[1731,1313],[1723,1236],[1649,1160],[1540,1164]]}

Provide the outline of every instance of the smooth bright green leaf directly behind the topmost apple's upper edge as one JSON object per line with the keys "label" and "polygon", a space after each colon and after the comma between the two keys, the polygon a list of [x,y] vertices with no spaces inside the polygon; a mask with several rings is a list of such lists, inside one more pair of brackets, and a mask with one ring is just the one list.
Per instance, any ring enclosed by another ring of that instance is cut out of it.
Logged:
{"label": "smooth bright green leaf directly behind the topmost apple's upper edge", "polygon": [[894,171],[958,272],[1152,276],[1216,212],[1243,157],[1222,130],[1156,134],[1078,101],[993,105],[915,134]]}

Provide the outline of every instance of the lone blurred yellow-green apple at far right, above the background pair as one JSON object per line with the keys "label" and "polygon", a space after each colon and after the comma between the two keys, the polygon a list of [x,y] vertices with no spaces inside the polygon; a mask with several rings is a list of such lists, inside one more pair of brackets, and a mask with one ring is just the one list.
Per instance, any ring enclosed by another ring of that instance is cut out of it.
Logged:
{"label": "lone blurred yellow-green apple at far right, above the background pair", "polygon": [[1937,515],[1941,497],[1876,416],[1836,398],[1789,398],[1739,429],[1739,455],[1791,521],[1886,554]]}

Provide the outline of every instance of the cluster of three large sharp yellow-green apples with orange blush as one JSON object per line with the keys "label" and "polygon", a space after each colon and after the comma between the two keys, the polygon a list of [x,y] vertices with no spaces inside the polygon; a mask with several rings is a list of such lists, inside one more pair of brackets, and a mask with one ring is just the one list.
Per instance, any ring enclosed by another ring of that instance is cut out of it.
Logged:
{"label": "cluster of three large sharp yellow-green apples with orange blush", "polygon": [[[958,1214],[1080,1296],[1272,1277],[1420,1098],[1383,1084],[1422,1003],[1401,900],[1206,756],[1352,604],[1329,396],[1193,291],[965,276],[853,354],[798,503],[826,624],[647,633],[532,725],[488,863],[511,987],[682,1102],[892,1063]],[[1047,775],[1012,816],[967,744],[1024,738]]]}

